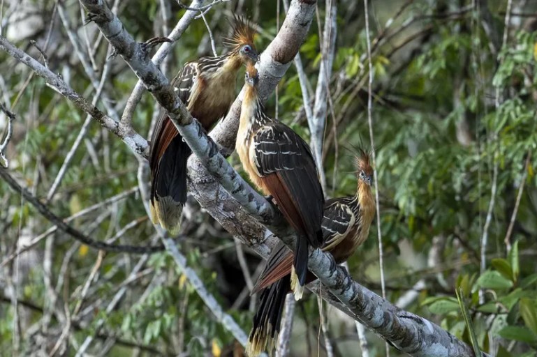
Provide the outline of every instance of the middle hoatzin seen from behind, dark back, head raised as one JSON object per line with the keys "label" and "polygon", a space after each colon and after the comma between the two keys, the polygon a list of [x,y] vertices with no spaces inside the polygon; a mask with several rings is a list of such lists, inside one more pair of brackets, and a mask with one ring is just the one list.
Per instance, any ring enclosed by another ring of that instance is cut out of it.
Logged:
{"label": "middle hoatzin seen from behind, dark back, head raised", "polygon": [[324,196],[311,149],[291,128],[264,112],[257,93],[258,73],[247,65],[236,149],[244,170],[265,195],[271,195],[297,231],[293,291],[300,298],[307,275],[309,247],[323,243]]}

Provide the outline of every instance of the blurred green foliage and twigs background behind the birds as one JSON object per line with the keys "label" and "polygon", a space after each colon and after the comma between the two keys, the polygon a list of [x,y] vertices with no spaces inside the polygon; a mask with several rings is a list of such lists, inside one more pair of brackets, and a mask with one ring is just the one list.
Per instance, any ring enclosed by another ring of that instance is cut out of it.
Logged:
{"label": "blurred green foliage and twigs background behind the birds", "polygon": [[[167,20],[163,8],[171,15]],[[455,294],[460,287],[480,349],[497,356],[534,356],[537,348],[536,10],[533,0],[369,4],[386,298],[469,342]],[[184,10],[175,1],[126,0],[117,1],[117,13],[128,31],[145,41],[168,33]],[[249,0],[214,6],[206,18],[219,53],[232,13],[246,13],[258,24],[262,49],[277,33],[284,6]],[[321,1],[318,19],[324,15]],[[122,59],[108,57],[108,44],[93,26],[82,26],[78,1],[3,1],[0,21],[2,36],[38,58],[30,43],[35,40],[47,66],[93,98],[66,28],[77,32],[83,47],[94,50],[91,64],[98,77],[110,66],[98,106],[105,98],[121,115],[137,79]],[[300,52],[313,88],[321,60],[319,28],[314,22]],[[371,141],[361,1],[337,1],[336,43],[323,150],[330,197],[354,194],[353,145],[367,147]],[[212,54],[207,27],[196,20],[163,71],[171,78],[182,63],[207,54]],[[5,52],[0,52],[0,94],[0,102],[17,114],[6,156],[22,185],[62,218],[128,191],[83,212],[71,225],[96,241],[159,242],[138,193],[147,181],[145,162]],[[267,109],[309,137],[294,67]],[[135,129],[146,135],[158,112],[146,94],[134,116]],[[0,113],[0,128],[6,123]],[[87,133],[61,184],[50,192],[82,127]],[[240,168],[236,155],[230,161]],[[167,253],[105,254],[82,245],[51,229],[54,225],[3,182],[0,202],[2,354],[74,356],[88,336],[92,355],[240,354]],[[370,235],[348,266],[355,280],[382,294],[376,227]],[[260,259],[243,252],[196,202],[186,209],[179,247],[207,289],[249,331],[256,300],[249,297],[246,280],[260,273]],[[330,306],[323,315],[334,356],[355,356],[353,321]],[[295,310],[292,356],[326,354],[320,324],[310,294]],[[369,332],[366,338],[370,356],[385,355],[382,340]],[[391,349],[390,356],[399,354]]]}

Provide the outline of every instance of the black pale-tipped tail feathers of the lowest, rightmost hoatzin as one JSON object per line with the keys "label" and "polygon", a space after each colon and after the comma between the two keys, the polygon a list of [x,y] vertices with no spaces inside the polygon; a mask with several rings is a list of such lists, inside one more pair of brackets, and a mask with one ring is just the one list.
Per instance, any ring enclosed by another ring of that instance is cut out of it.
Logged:
{"label": "black pale-tipped tail feathers of the lowest, rightmost hoatzin", "polygon": [[289,291],[290,275],[286,275],[261,293],[259,308],[253,318],[246,346],[247,356],[259,356],[263,351],[272,352],[280,331],[281,314]]}

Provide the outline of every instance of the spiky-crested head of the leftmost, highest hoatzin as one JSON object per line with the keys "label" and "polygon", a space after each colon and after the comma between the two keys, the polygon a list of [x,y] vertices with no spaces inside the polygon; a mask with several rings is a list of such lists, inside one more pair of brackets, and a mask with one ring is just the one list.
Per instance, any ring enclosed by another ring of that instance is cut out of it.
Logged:
{"label": "spiky-crested head of the leftmost, highest hoatzin", "polygon": [[258,53],[256,45],[253,44],[253,36],[256,31],[251,27],[251,24],[244,17],[235,15],[231,22],[233,33],[230,37],[223,39],[224,45],[230,47],[231,54],[238,56],[242,63],[256,63]]}

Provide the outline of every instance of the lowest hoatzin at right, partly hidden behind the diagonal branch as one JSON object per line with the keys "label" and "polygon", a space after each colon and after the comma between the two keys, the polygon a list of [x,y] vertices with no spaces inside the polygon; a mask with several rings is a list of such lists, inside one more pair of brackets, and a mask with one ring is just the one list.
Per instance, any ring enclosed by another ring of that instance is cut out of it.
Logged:
{"label": "lowest hoatzin at right, partly hidden behind the diagonal branch", "polygon": [[[356,158],[358,167],[358,190],[353,197],[329,199],[324,208],[322,250],[332,253],[337,264],[353,255],[369,235],[369,227],[375,214],[375,199],[371,192],[373,169],[369,164],[369,154],[359,149]],[[293,252],[279,243],[267,261],[265,271],[260,275],[252,294],[261,292],[260,304],[253,318],[253,328],[249,335],[247,350],[249,356],[257,356],[267,347],[272,349],[277,341],[281,313],[285,298],[290,291],[290,273]],[[316,277],[308,274],[307,282]],[[268,346],[267,346],[268,344]]]}

